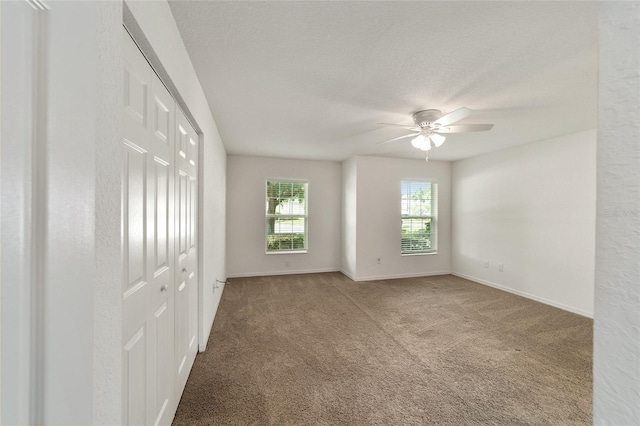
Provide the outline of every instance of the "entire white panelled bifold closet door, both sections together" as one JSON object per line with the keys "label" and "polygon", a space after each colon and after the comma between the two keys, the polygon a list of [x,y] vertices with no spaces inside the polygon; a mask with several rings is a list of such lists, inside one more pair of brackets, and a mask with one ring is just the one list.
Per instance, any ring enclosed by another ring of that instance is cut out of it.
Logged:
{"label": "entire white panelled bifold closet door, both sections together", "polygon": [[171,424],[197,352],[197,134],[125,31],[123,423]]}

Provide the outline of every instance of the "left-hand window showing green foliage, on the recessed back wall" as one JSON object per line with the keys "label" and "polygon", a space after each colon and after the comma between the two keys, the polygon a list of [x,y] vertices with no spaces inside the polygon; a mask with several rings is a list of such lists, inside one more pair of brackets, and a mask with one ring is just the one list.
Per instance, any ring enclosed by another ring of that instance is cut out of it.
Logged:
{"label": "left-hand window showing green foliage, on the recessed back wall", "polygon": [[267,181],[267,253],[307,250],[307,182]]}

